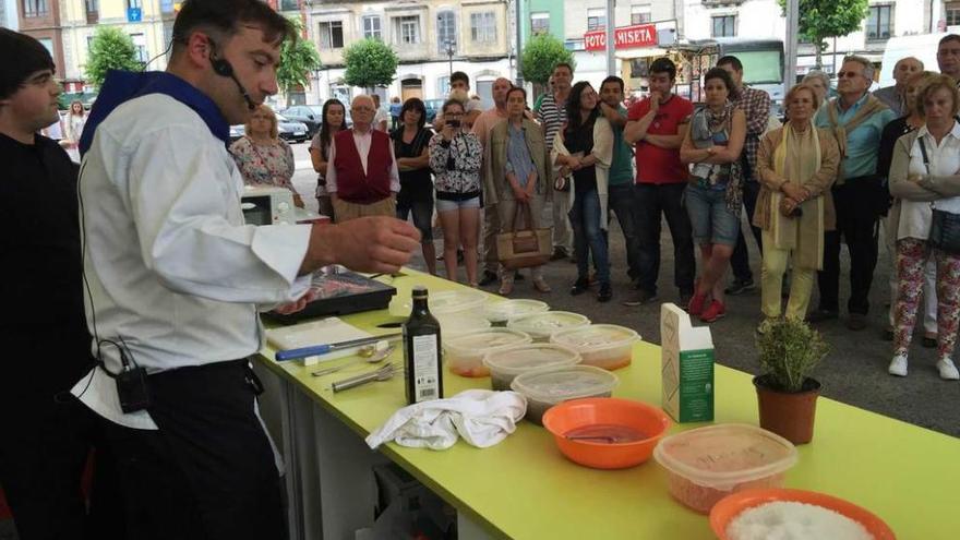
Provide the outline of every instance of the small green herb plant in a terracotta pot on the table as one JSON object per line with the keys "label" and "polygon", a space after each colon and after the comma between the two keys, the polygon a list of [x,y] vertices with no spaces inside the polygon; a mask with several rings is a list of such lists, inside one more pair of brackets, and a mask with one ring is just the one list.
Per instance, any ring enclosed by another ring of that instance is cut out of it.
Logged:
{"label": "small green herb plant in a terracotta pot on the table", "polygon": [[760,427],[792,442],[814,436],[820,383],[809,375],[830,347],[820,333],[803,321],[767,321],[757,334],[763,374],[754,377]]}

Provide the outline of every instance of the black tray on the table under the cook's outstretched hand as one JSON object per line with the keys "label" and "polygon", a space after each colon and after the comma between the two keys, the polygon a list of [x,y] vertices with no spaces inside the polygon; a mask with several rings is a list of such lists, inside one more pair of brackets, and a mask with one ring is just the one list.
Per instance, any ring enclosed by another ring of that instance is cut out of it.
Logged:
{"label": "black tray on the table under the cook's outstretched hand", "polygon": [[289,315],[271,311],[263,313],[264,319],[293,324],[304,319],[384,310],[397,293],[397,289],[388,285],[349,271],[317,271],[313,275],[313,288],[319,297],[303,310]]}

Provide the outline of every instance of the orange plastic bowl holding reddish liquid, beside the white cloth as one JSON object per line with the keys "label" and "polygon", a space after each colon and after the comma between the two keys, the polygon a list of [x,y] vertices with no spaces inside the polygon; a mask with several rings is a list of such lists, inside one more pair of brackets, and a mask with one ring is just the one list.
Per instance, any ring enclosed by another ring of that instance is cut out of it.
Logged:
{"label": "orange plastic bowl holding reddish liquid, beside the white cloth", "polygon": [[[608,443],[565,436],[572,430],[598,424],[631,428],[647,439]],[[543,427],[553,433],[560,452],[569,460],[595,469],[625,469],[646,461],[672,424],[670,417],[657,407],[615,397],[573,399],[551,407],[543,415]]]}

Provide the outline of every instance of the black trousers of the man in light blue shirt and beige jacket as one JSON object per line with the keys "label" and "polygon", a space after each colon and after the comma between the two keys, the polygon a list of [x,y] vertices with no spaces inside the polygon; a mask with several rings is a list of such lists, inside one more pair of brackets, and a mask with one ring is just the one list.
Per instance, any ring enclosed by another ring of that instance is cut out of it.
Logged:
{"label": "black trousers of the man in light blue shirt and beige jacket", "polygon": [[840,307],[840,240],[850,252],[850,313],[865,315],[869,311],[869,289],[877,266],[877,236],[884,187],[875,177],[848,180],[833,189],[837,230],[824,236],[824,269],[817,273],[821,310],[839,311]]}

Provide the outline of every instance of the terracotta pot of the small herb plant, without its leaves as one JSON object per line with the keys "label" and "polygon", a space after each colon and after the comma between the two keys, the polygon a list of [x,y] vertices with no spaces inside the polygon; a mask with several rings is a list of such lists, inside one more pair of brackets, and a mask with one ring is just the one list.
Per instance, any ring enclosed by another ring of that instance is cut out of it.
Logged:
{"label": "terracotta pot of the small herb plant, without its leaves", "polygon": [[793,444],[806,444],[814,437],[814,418],[820,383],[807,379],[800,392],[782,392],[769,383],[767,375],[754,377],[760,428],[772,431]]}

